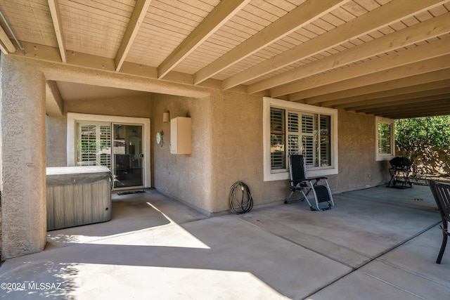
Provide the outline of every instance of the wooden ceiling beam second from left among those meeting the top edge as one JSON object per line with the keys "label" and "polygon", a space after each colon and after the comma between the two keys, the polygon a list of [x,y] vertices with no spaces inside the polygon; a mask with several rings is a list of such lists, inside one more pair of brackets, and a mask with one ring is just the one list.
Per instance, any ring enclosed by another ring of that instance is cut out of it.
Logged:
{"label": "wooden ceiling beam second from left among those meeting the top edge", "polygon": [[125,30],[124,37],[120,43],[119,49],[117,50],[115,56],[115,71],[119,72],[122,67],[125,58],[131,49],[134,39],[139,32],[139,27],[141,27],[143,19],[146,18],[148,7],[150,6],[151,0],[136,0],[136,5],[134,6],[133,13],[131,13],[131,18]]}

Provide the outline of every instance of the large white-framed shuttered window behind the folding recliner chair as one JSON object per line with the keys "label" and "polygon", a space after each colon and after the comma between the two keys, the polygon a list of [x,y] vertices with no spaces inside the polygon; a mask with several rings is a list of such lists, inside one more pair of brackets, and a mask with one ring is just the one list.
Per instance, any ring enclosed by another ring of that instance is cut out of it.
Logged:
{"label": "large white-framed shuttered window behind the folding recliner chair", "polygon": [[266,149],[270,149],[264,150],[264,157],[269,162],[268,167],[264,166],[264,180],[285,178],[283,174],[288,173],[288,157],[297,154],[304,155],[307,169],[314,170],[313,173],[316,172],[318,176],[337,174],[337,159],[333,162],[337,150],[337,143],[333,140],[333,135],[337,138],[337,110],[264,99],[264,111],[266,117],[270,117],[267,122],[264,121],[266,129],[263,129],[267,138],[270,137],[264,139]]}

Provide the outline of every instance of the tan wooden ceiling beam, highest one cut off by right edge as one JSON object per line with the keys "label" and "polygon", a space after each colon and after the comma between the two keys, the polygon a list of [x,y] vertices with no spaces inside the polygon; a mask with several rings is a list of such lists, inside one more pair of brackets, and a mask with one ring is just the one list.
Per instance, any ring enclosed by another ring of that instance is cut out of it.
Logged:
{"label": "tan wooden ceiling beam, highest one cut off by right edge", "polygon": [[[370,15],[371,13],[374,12],[381,12],[381,8],[387,8],[387,5],[380,7],[380,11],[375,9],[374,11],[367,13],[366,15]],[[362,15],[359,18],[361,19],[368,18],[366,17],[366,15]],[[380,19],[384,21],[383,18]],[[342,27],[345,27],[346,25],[349,24],[350,22],[346,23],[345,25],[342,25]],[[360,27],[356,27],[356,29],[360,30],[360,32],[364,32],[364,30],[367,31],[366,27],[362,27],[361,29]],[[330,31],[330,33],[331,32],[332,31]],[[327,56],[326,58],[321,58],[320,60],[308,63],[307,65],[302,65],[302,67],[297,67],[293,70],[283,72],[282,74],[270,77],[268,79],[264,79],[255,84],[250,84],[250,86],[248,86],[248,93],[264,91],[266,89],[271,89],[274,86],[281,86],[283,84],[296,81],[298,79],[303,79],[312,76],[314,74],[319,74],[321,72],[333,70],[338,67],[350,65],[352,63],[359,62],[360,60],[364,60],[366,58],[378,56],[380,54],[387,53],[389,51],[393,51],[401,47],[409,46],[418,43],[420,41],[424,41],[426,39],[438,37],[439,35],[446,34],[448,32],[450,32],[450,13],[445,13],[444,15],[439,15],[436,18],[431,18],[429,20],[420,22],[411,27],[406,27],[404,30],[392,32],[391,34],[387,34],[384,37],[373,39],[372,41],[368,41],[359,46],[354,46],[345,51],[336,53],[332,56]],[[328,37],[327,34],[328,33],[323,34],[316,39]],[[356,32],[354,34],[356,34]],[[347,36],[344,37],[349,38]],[[308,45],[311,44],[310,42],[313,42],[316,39],[312,39],[304,44],[300,44],[299,46],[297,46],[297,48],[303,47],[311,51],[310,49],[314,49],[315,47],[314,45],[308,47]],[[336,39],[336,37],[334,39]],[[333,43],[333,41],[330,40],[329,43]],[[328,45],[322,46],[326,47]],[[323,50],[326,50],[326,48],[324,48]],[[304,53],[305,51],[302,52]],[[248,70],[250,69],[251,68],[249,68]]]}

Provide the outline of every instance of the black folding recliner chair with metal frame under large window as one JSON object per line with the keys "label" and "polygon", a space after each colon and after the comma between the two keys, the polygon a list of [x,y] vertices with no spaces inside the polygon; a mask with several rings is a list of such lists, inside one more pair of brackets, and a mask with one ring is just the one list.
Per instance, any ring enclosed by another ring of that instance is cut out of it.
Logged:
{"label": "black folding recliner chair with metal frame under large window", "polygon": [[[306,163],[303,155],[289,156],[289,174],[290,174],[290,194],[286,197],[285,203],[292,203],[306,200],[311,211],[323,211],[324,209],[332,209],[335,207],[333,196],[326,177],[307,177]],[[304,191],[307,190],[305,194]],[[309,192],[314,193],[314,201],[316,207],[312,207],[308,200]],[[290,200],[295,192],[302,193],[303,197],[297,200]],[[319,205],[319,203],[321,205]],[[326,204],[326,205],[323,205]]]}

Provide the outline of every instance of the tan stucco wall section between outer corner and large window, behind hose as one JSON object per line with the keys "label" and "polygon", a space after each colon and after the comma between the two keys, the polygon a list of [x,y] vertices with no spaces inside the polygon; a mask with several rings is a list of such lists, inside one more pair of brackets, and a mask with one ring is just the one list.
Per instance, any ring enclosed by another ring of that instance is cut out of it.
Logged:
{"label": "tan stucco wall section between outer corner and large window, behind hose", "polygon": [[231,185],[245,182],[255,205],[285,197],[283,181],[263,181],[262,97],[225,92],[212,107],[212,195],[214,212],[229,210]]}

